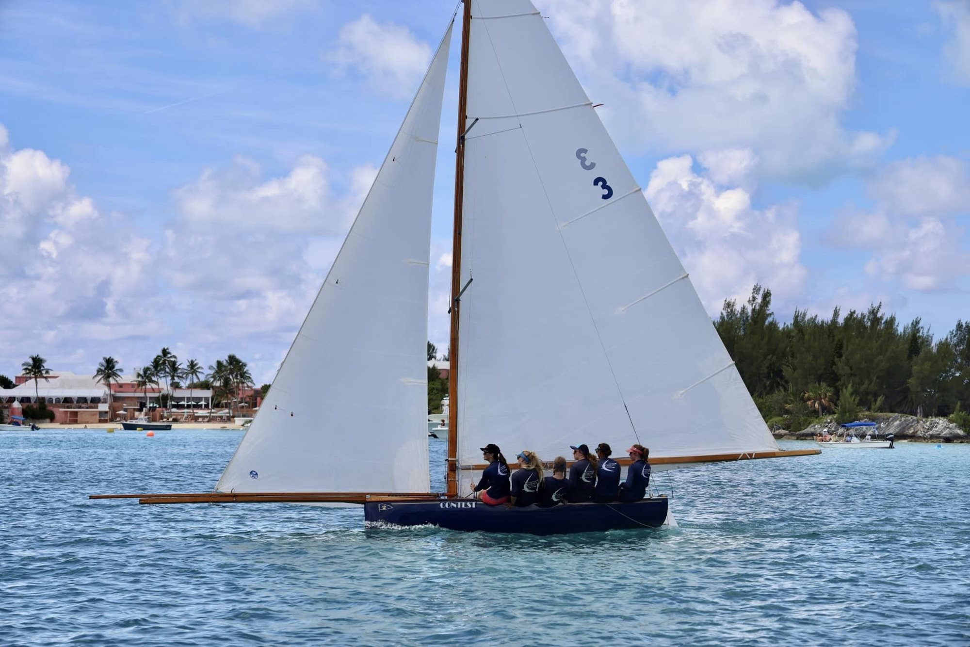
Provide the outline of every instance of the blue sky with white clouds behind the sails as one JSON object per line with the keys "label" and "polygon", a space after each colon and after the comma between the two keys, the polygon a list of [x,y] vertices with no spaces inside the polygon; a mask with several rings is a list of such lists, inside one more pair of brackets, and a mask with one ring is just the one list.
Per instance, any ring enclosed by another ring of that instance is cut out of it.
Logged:
{"label": "blue sky with white clouds behind the sails", "polygon": [[[970,318],[970,0],[535,4],[712,317],[759,282],[782,320]],[[0,0],[0,374],[168,346],[272,381],[454,10]]]}

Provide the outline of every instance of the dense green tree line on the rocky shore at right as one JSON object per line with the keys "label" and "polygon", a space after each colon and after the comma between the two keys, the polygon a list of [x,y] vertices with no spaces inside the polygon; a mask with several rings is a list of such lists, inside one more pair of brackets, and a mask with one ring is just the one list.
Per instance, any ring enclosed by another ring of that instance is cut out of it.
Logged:
{"label": "dense green tree line on the rocky shore at right", "polygon": [[900,325],[878,304],[827,318],[795,310],[782,324],[771,290],[755,285],[746,304],[725,301],[714,326],[769,425],[796,431],[862,409],[964,420],[970,404],[970,322],[934,339],[919,318]]}

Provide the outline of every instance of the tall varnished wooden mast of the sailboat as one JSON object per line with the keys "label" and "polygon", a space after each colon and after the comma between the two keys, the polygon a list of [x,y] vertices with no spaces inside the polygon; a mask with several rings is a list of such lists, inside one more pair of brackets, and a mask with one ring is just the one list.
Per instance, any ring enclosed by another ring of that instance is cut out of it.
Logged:
{"label": "tall varnished wooden mast of the sailboat", "polygon": [[455,147],[455,229],[451,243],[451,336],[448,346],[448,469],[449,495],[458,494],[458,314],[462,289],[462,207],[465,193],[465,127],[469,95],[469,32],[471,0],[462,16],[462,61],[458,81],[458,136]]}

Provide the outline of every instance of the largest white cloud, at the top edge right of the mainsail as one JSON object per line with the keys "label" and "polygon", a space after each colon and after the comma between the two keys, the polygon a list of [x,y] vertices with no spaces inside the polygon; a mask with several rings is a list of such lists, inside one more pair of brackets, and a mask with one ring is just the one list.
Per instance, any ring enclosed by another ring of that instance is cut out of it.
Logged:
{"label": "largest white cloud, at the top edge right of the mainsail", "polygon": [[760,174],[816,180],[864,165],[893,135],[840,124],[856,27],[799,2],[541,3],[618,139],[660,151],[751,148]]}

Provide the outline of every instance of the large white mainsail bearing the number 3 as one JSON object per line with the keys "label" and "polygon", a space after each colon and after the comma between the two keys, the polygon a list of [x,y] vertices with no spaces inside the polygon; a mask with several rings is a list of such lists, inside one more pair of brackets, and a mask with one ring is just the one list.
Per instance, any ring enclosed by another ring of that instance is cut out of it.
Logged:
{"label": "large white mainsail bearing the number 3", "polygon": [[544,460],[777,450],[542,16],[471,7],[459,465],[488,442]]}

